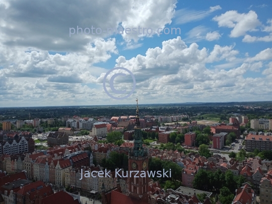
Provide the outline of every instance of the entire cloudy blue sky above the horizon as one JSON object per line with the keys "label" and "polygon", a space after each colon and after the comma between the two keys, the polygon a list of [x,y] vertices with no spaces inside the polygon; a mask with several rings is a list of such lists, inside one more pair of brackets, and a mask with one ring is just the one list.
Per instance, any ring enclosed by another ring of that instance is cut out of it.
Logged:
{"label": "entire cloudy blue sky above the horizon", "polygon": [[272,101],[271,7],[0,0],[0,107]]}

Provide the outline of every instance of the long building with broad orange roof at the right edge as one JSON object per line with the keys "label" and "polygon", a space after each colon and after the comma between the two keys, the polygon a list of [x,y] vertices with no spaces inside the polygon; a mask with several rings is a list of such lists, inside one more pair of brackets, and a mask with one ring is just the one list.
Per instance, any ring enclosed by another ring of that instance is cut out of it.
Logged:
{"label": "long building with broad orange roof at the right edge", "polygon": [[272,149],[272,138],[267,135],[248,134],[245,138],[245,149],[252,152],[255,149],[259,151]]}

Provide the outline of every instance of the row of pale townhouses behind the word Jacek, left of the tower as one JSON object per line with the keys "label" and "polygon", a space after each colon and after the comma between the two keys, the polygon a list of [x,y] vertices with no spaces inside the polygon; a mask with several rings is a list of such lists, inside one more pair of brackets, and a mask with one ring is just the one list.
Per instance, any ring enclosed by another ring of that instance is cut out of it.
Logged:
{"label": "row of pale townhouses behind the word Jacek, left of the tower", "polygon": [[[101,193],[101,186],[104,184],[105,189],[109,190],[117,185],[117,177],[115,177],[115,171],[108,173],[109,177],[99,177],[98,172],[102,171],[103,167],[99,165],[95,167],[91,165],[90,167],[82,166],[81,168],[66,169],[64,172],[65,177],[65,187],[71,187],[73,189],[82,190],[85,192],[99,192]],[[117,168],[117,171],[119,169]],[[104,175],[105,175],[105,171]],[[108,172],[108,170],[107,170]],[[122,170],[118,172],[120,175]],[[82,175],[83,173],[83,175]],[[99,174],[101,176],[101,174]],[[128,195],[128,179],[119,180],[122,192]]]}

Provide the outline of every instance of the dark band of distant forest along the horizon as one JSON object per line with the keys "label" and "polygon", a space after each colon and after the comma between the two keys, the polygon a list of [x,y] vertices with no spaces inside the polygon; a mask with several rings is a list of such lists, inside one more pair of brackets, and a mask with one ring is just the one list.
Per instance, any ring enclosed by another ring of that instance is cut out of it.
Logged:
{"label": "dark band of distant forest along the horizon", "polygon": [[[254,106],[246,109],[241,107]],[[240,106],[240,107],[238,107]],[[272,102],[229,102],[229,103],[180,103],[180,104],[144,104],[139,106],[140,116],[187,114],[190,119],[201,119],[201,115],[216,114],[221,120],[228,120],[233,113],[248,115],[252,118],[272,118]],[[135,115],[135,105],[116,106],[58,106],[58,107],[12,107],[0,108],[0,120],[30,118],[73,117],[112,117]],[[1,117],[2,116],[2,117]]]}

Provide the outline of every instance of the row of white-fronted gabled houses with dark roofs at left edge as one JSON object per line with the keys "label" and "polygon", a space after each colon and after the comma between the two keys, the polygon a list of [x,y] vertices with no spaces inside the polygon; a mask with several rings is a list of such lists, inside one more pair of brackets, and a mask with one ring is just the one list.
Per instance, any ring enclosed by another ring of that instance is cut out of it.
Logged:
{"label": "row of white-fronted gabled houses with dark roofs at left edge", "polygon": [[18,140],[0,141],[0,155],[15,155],[34,152],[32,138],[20,137]]}

